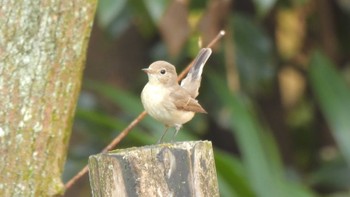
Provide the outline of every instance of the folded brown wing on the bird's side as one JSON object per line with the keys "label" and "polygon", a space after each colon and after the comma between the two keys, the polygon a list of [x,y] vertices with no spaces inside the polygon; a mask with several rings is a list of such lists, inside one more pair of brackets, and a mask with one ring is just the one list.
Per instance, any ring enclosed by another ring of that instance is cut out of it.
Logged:
{"label": "folded brown wing on the bird's side", "polygon": [[179,87],[177,91],[170,93],[170,98],[179,110],[207,113],[198,101],[192,98],[190,94],[181,87]]}

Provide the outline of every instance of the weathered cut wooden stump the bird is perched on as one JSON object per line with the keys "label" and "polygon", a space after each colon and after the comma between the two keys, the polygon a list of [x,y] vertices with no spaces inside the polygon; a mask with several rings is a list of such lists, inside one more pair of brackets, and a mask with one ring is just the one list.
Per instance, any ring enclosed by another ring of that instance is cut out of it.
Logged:
{"label": "weathered cut wooden stump the bird is perched on", "polygon": [[219,196],[211,142],[191,141],[92,155],[93,196]]}

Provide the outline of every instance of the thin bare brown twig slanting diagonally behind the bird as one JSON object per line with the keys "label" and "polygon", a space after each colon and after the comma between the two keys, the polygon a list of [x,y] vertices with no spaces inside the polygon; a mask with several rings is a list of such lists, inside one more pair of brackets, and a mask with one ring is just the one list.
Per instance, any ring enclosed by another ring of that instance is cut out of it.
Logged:
{"label": "thin bare brown twig slanting diagonally behind the bird", "polygon": [[[221,37],[225,35],[225,31],[221,30],[218,35],[207,45],[207,48],[211,48]],[[193,61],[179,74],[178,81],[183,79],[185,75],[190,70]],[[119,142],[124,139],[128,135],[128,133],[133,129],[145,116],[146,111],[140,113],[114,140],[108,144],[101,152],[105,153],[112,150]],[[66,184],[65,189],[68,190],[71,188],[82,176],[84,176],[89,171],[88,165],[85,165],[83,169],[81,169],[73,178],[71,178]]]}

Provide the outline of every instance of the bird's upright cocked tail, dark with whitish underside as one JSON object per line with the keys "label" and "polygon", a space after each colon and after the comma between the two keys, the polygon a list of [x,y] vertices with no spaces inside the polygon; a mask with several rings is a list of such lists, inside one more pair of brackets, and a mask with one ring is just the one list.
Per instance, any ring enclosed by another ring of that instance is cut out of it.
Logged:
{"label": "bird's upright cocked tail, dark with whitish underside", "polygon": [[210,48],[202,48],[194,60],[193,65],[186,78],[181,81],[181,86],[187,90],[193,98],[196,98],[198,96],[198,89],[201,85],[203,67],[210,57],[211,52],[212,51]]}

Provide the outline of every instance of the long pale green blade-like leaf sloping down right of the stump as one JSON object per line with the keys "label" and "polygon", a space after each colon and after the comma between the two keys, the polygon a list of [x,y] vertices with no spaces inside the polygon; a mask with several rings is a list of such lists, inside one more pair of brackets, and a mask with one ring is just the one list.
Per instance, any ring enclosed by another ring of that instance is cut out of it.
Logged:
{"label": "long pale green blade-like leaf sloping down right of the stump", "polygon": [[210,83],[217,97],[229,111],[228,126],[237,139],[249,184],[257,196],[312,196],[296,183],[284,177],[276,142],[258,121],[247,98],[230,93],[226,83],[214,74]]}

